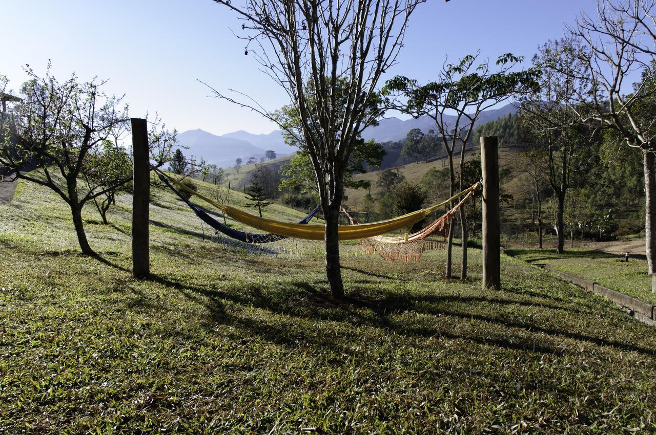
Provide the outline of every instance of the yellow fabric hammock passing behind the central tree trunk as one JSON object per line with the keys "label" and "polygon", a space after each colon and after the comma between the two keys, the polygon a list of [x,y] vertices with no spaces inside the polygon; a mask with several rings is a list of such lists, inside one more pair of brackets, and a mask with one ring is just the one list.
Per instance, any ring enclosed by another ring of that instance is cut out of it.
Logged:
{"label": "yellow fabric hammock passing behind the central tree trunk", "polygon": [[[186,185],[180,183],[175,178],[169,176],[169,174],[165,174],[164,172],[161,172],[161,170],[157,168],[155,168],[155,172],[157,172],[157,174],[165,176],[168,180],[171,180],[171,182],[174,183],[178,188],[183,189],[190,195],[195,195],[196,197],[199,197],[200,199],[204,200],[208,204],[212,204],[213,206],[218,208],[218,210],[221,210],[222,212],[228,214],[228,216],[232,217],[236,221],[244,223],[249,227],[260,229],[262,231],[266,231],[267,233],[273,233],[281,236],[288,236],[294,238],[304,238],[306,240],[323,240],[324,238],[325,235],[324,225],[282,222],[282,221],[276,221],[274,219],[266,219],[265,217],[253,216],[252,214],[243,212],[238,208],[226,206],[224,204],[220,204],[219,202],[216,202],[211,198],[205,197],[204,195],[195,192],[189,187],[186,187]],[[358,238],[379,236],[385,233],[390,233],[390,231],[395,231],[401,228],[407,228],[413,225],[413,223],[419,222],[421,219],[424,219],[424,217],[428,216],[431,212],[434,212],[444,204],[448,204],[452,200],[457,199],[462,195],[466,195],[470,191],[478,188],[478,184],[479,183],[476,183],[471,187],[464,189],[464,191],[453,195],[453,197],[443,202],[440,202],[440,204],[436,204],[428,208],[423,208],[422,210],[417,210],[416,212],[404,214],[403,216],[394,217],[393,219],[388,219],[386,221],[371,222],[371,223],[361,223],[359,225],[339,225],[338,227],[339,240],[356,240]]]}

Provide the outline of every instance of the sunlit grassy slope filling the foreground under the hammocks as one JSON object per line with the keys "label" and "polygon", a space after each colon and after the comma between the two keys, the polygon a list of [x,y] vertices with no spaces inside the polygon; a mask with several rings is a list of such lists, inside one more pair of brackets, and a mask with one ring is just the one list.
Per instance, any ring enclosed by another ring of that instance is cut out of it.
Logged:
{"label": "sunlit grassy slope filling the foreground under the hammocks", "polygon": [[521,261],[482,291],[476,251],[464,283],[443,252],[344,257],[335,305],[320,256],[235,255],[157,204],[146,281],[128,197],[87,223],[102,261],[49,191],[0,207],[0,432],[656,430],[653,328]]}

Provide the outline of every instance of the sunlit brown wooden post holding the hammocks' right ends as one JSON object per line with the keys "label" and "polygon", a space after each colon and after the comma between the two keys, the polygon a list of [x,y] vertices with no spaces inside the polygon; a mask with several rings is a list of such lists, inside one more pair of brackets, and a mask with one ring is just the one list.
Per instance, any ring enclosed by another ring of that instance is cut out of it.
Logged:
{"label": "sunlit brown wooden post holding the hammocks' right ends", "polygon": [[483,173],[483,288],[501,288],[499,147],[496,136],[481,137]]}

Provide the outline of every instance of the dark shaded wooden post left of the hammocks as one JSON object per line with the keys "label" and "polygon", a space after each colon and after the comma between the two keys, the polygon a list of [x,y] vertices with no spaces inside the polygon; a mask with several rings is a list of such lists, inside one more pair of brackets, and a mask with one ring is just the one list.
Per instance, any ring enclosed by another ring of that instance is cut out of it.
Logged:
{"label": "dark shaded wooden post left of the hammocks", "polygon": [[131,118],[134,158],[132,200],[132,274],[134,278],[150,275],[148,249],[148,206],[150,205],[150,155],[148,126],[145,119]]}

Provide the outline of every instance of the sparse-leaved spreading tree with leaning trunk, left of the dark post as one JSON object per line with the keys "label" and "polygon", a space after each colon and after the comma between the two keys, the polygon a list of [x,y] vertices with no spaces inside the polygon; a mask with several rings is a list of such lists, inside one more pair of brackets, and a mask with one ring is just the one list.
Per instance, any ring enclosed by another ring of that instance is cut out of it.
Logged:
{"label": "sparse-leaved spreading tree with leaning trunk, left of the dark post", "polygon": [[[87,241],[82,208],[125,185],[131,175],[90,164],[90,155],[101,153],[112,128],[125,123],[126,108],[120,106],[120,98],[102,92],[104,82],[79,83],[75,75],[59,82],[50,69],[48,66],[45,76],[39,77],[26,68],[31,80],[21,88],[22,101],[7,113],[9,135],[1,138],[0,163],[18,169],[24,162],[35,162],[37,169],[28,173],[16,170],[14,177],[56,192],[70,206],[83,254],[95,255]],[[15,143],[9,142],[8,136]],[[79,183],[85,171],[90,172],[86,188]]]}

